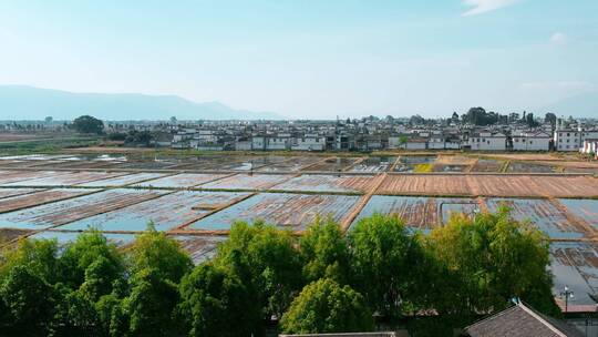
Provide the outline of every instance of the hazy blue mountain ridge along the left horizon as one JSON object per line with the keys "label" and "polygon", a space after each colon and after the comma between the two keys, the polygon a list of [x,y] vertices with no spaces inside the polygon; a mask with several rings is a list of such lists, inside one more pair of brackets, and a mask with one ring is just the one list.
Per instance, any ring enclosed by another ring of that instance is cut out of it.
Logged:
{"label": "hazy blue mountain ridge along the left horizon", "polygon": [[24,85],[0,85],[0,120],[72,120],[83,114],[109,121],[281,120],[272,112],[197,103],[176,95],[74,93]]}

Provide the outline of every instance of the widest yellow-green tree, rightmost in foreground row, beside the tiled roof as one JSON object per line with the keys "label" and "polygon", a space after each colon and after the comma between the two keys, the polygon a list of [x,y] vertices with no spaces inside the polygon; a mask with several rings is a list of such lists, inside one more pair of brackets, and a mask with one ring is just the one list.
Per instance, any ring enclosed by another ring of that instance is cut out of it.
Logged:
{"label": "widest yellow-green tree, rightmost in foreground row, beside the tiled roof", "polygon": [[514,221],[504,206],[474,218],[452,216],[430,237],[431,249],[452,277],[444,304],[453,303],[458,315],[474,315],[501,310],[515,296],[558,316],[547,269],[548,242],[530,223]]}

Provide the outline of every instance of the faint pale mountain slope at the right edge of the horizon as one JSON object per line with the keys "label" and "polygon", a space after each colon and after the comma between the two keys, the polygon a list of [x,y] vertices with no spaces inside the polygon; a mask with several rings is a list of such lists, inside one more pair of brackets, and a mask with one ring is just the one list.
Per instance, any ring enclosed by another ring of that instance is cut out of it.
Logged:
{"label": "faint pale mountain slope at the right edge of the horizon", "polygon": [[543,106],[538,111],[551,112],[559,118],[573,115],[574,118],[598,119],[598,92],[587,92],[570,96]]}

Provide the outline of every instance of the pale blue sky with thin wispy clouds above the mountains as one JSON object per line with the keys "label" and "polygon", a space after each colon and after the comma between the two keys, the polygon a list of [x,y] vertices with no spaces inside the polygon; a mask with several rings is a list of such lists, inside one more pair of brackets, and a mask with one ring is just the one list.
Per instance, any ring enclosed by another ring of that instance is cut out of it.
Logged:
{"label": "pale blue sky with thin wispy clouds above the mountains", "polygon": [[0,84],[293,119],[530,110],[597,63],[597,0],[0,1]]}

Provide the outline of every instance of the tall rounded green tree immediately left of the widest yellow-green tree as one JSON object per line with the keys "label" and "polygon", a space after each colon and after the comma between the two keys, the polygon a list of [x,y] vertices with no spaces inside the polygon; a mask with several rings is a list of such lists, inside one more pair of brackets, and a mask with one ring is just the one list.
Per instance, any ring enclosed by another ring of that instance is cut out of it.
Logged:
{"label": "tall rounded green tree immediately left of the widest yellow-green tree", "polygon": [[419,235],[408,233],[396,216],[374,214],[349,233],[354,288],[380,314],[395,318],[419,300],[415,285],[424,282]]}

